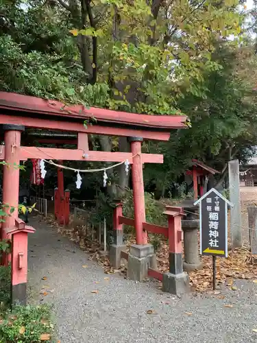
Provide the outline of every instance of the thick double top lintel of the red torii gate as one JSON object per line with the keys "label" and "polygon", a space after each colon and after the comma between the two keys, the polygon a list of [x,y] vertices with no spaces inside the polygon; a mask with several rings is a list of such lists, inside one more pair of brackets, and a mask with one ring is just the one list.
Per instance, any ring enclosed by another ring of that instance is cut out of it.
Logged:
{"label": "thick double top lintel of the red torii gate", "polygon": [[[17,93],[0,92],[0,123],[19,123],[51,130],[142,137],[168,141],[171,129],[186,128],[187,117],[180,115],[138,115],[82,105],[67,106],[56,100]],[[84,120],[96,119],[83,126]]]}

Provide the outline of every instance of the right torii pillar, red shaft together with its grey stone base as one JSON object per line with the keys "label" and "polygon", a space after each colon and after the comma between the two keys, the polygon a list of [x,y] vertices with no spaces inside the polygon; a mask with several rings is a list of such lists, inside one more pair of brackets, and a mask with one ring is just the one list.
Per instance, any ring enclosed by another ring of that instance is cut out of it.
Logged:
{"label": "right torii pillar, red shaft together with its grey stone base", "polygon": [[143,281],[147,277],[149,266],[156,269],[156,255],[154,254],[154,247],[147,242],[147,232],[143,230],[143,222],[145,222],[145,189],[141,156],[143,138],[129,137],[128,141],[133,155],[132,188],[136,244],[130,247],[127,260],[127,277],[131,280]]}

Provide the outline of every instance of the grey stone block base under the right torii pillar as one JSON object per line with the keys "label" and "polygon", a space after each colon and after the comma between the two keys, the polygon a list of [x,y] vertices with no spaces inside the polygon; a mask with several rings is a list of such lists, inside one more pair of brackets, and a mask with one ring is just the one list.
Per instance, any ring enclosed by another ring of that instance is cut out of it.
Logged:
{"label": "grey stone block base under the right torii pillar", "polygon": [[145,244],[144,246],[133,244],[130,247],[127,260],[127,279],[144,281],[147,278],[149,266],[153,268],[155,265],[154,256],[154,247],[151,244]]}

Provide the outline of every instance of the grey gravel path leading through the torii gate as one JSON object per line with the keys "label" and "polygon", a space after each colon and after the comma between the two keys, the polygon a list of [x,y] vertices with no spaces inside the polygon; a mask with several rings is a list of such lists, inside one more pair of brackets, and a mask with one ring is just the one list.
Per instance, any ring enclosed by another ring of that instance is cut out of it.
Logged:
{"label": "grey gravel path leading through the torii gate", "polygon": [[[61,343],[257,342],[255,283],[238,281],[236,291],[222,290],[222,299],[177,298],[162,293],[158,283],[117,274],[105,280],[109,275],[71,241],[44,222],[29,224],[36,228],[29,235],[29,301],[54,304]],[[43,287],[46,296],[40,294]],[[154,313],[147,314],[149,309]]]}

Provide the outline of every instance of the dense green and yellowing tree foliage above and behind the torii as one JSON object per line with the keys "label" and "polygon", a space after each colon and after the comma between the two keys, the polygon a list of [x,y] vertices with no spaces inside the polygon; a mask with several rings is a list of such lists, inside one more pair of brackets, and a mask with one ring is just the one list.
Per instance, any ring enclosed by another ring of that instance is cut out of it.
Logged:
{"label": "dense green and yellowing tree foliage above and behind the torii", "polygon": [[[1,90],[190,117],[192,128],[172,132],[169,143],[144,143],[145,151],[165,156],[164,165],[146,166],[147,190],[169,195],[192,158],[223,178],[231,158],[251,154],[255,12],[242,2],[1,0],[0,8]],[[125,138],[93,136],[90,144],[128,149]],[[129,185],[123,169],[108,175],[111,196]],[[68,183],[73,178],[66,173]],[[83,187],[100,185],[101,176],[93,175]]]}

